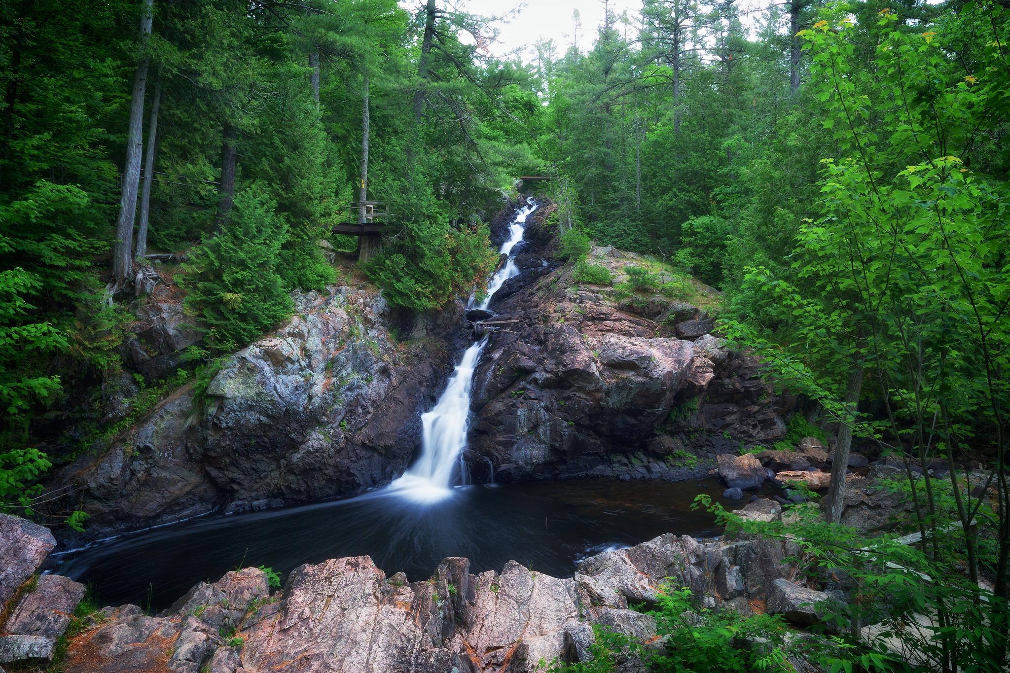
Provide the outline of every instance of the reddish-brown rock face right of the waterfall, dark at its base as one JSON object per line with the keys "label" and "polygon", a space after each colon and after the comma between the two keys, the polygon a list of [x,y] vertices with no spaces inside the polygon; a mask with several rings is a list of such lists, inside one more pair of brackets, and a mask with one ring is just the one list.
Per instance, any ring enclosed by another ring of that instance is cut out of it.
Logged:
{"label": "reddish-brown rock face right of the waterfall, dark at its base", "polygon": [[[659,295],[618,301],[550,261],[552,210],[529,217],[516,257],[523,272],[493,298],[497,315],[475,326],[489,344],[475,375],[473,473],[489,476],[490,462],[501,479],[684,478],[741,441],[784,435],[789,399],[774,395],[753,358],[709,334],[706,312]],[[609,247],[590,261],[617,281],[641,262]]]}

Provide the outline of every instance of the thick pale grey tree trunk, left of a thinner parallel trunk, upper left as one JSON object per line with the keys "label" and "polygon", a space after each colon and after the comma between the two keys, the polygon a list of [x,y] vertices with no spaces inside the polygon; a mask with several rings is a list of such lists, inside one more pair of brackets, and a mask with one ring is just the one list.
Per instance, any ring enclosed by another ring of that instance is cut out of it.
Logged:
{"label": "thick pale grey tree trunk, left of a thinner parallel trunk, upper left", "polygon": [[[140,9],[140,46],[150,36],[154,0],[142,0]],[[147,86],[147,68],[150,60],[142,57],[133,74],[133,98],[129,110],[129,128],[126,133],[126,165],[123,170],[123,191],[119,200],[119,221],[116,224],[116,242],[112,251],[112,278],[115,288],[130,278],[133,259],[133,221],[136,215],[136,191],[140,183],[140,153],[143,149],[143,92]]]}

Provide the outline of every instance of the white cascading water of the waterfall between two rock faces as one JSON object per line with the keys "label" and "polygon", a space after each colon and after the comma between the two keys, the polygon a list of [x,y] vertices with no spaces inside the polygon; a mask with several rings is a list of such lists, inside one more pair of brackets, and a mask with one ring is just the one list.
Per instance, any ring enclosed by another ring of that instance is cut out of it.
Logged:
{"label": "white cascading water of the waterfall between two rock faces", "polygon": [[[487,309],[491,297],[505,281],[517,275],[519,270],[512,261],[512,248],[522,240],[526,218],[536,210],[532,199],[517,209],[509,227],[509,239],[502,244],[501,253],[509,255],[508,261],[488,283],[488,294],[481,309]],[[473,344],[463,354],[456,371],[445,385],[438,402],[421,416],[421,455],[403,476],[393,481],[390,488],[403,496],[419,502],[434,502],[451,493],[452,470],[460,453],[467,447],[467,430],[470,428],[470,397],[474,371],[481,360],[488,339]]]}

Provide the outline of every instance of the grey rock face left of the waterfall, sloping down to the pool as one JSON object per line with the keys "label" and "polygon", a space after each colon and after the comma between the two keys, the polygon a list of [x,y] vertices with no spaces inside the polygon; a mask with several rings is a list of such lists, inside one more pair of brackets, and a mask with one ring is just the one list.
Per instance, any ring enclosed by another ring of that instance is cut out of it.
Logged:
{"label": "grey rock face left of the waterfall, sloping down to the pool", "polygon": [[299,296],[291,321],[226,358],[205,394],[176,390],[57,485],[95,536],[387,483],[416,449],[461,319],[405,322],[364,288]]}

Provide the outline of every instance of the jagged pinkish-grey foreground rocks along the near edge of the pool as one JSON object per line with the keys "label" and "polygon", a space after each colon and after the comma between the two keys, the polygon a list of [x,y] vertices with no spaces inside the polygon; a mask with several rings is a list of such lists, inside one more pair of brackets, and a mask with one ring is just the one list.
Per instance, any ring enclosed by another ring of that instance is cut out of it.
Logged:
{"label": "jagged pinkish-grey foreground rocks along the near edge of the pool", "polygon": [[[781,509],[756,500],[742,513],[777,517]],[[0,625],[0,662],[48,659],[84,593],[56,575],[22,584],[53,542],[45,529],[0,516],[0,555],[17,559],[4,579],[4,590],[17,597]],[[15,557],[13,549],[35,551]],[[784,562],[791,551],[776,541],[663,535],[590,557],[570,578],[515,562],[475,574],[467,559],[447,558],[417,582],[387,576],[358,556],[303,565],[279,588],[264,570],[244,568],[200,582],[159,614],[123,605],[82,616],[63,646],[63,670],[534,671],[541,661],[588,659],[593,626],[654,636],[652,620],[630,606],[652,604],[668,581],[690,587],[707,605],[743,613],[768,607],[809,624],[812,612],[800,603],[827,596],[798,583]]]}

